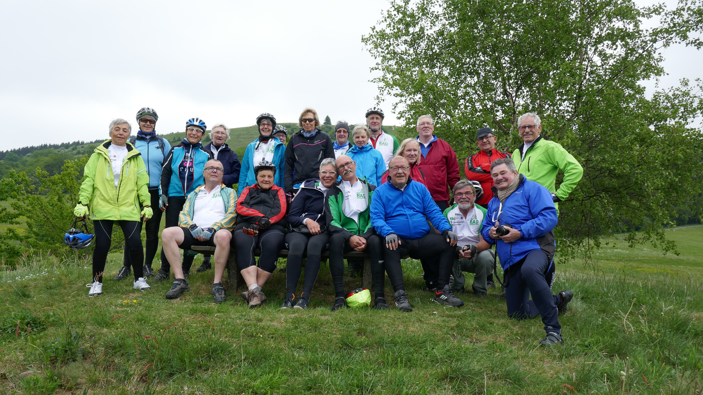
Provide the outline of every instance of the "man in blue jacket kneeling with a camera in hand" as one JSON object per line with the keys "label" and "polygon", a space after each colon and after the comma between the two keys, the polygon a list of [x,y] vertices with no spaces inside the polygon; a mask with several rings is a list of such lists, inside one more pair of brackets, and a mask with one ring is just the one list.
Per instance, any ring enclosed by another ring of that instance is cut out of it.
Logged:
{"label": "man in blue jacket kneeling with a camera in hand", "polygon": [[[574,294],[564,290],[552,295],[557,209],[548,189],[522,174],[512,159],[491,164],[497,194],[488,203],[481,234],[496,244],[505,272],[508,316],[516,319],[542,317],[546,337],[540,344],[561,344],[564,337],[558,314],[565,312]],[[529,295],[532,300],[529,300]]]}

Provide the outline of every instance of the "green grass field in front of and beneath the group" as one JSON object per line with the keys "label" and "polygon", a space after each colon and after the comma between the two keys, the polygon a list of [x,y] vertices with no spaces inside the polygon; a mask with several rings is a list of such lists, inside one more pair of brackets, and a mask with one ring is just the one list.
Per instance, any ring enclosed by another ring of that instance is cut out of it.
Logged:
{"label": "green grass field in front of and beneath the group", "polygon": [[89,262],[27,257],[0,273],[0,394],[700,394],[703,227],[669,237],[680,256],[614,238],[595,265],[559,265],[554,290],[575,297],[552,348],[538,345],[541,321],[508,319],[496,297],[434,303],[412,260],[404,314],[330,312],[327,267],[309,310],[281,312],[280,271],[250,310],[233,292],[212,302],[212,270],[166,300],[170,283],[139,293],[111,281],[113,254],[90,298]]}

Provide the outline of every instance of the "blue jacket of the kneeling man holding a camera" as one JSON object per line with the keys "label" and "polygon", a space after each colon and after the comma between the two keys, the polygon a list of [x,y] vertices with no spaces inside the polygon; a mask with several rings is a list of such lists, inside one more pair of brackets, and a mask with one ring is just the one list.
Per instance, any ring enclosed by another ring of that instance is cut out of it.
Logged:
{"label": "blue jacket of the kneeling man holding a camera", "polygon": [[[498,197],[489,201],[481,229],[481,235],[485,241],[491,244],[497,242],[496,248],[503,270],[520,261],[530,251],[542,249],[538,238],[545,236],[557,226],[557,209],[554,207],[549,189],[525,179],[523,175],[518,177],[522,178],[522,184],[508,196],[508,199],[505,199],[501,213],[498,213],[501,205]],[[519,230],[520,239],[512,243],[491,239],[489,231],[494,225],[494,218],[500,225],[510,225]]]}

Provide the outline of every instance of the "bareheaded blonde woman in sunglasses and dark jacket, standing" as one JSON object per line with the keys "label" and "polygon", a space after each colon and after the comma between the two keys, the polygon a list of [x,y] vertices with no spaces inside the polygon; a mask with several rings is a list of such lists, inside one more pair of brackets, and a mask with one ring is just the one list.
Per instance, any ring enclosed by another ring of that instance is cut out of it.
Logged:
{"label": "bareheaded blonde woman in sunglasses and dark jacket, standing", "polygon": [[301,129],[290,138],[285,149],[283,184],[289,194],[295,194],[304,180],[318,177],[323,159],[335,158],[332,139],[318,129],[320,119],[314,109],[300,113],[298,126]]}

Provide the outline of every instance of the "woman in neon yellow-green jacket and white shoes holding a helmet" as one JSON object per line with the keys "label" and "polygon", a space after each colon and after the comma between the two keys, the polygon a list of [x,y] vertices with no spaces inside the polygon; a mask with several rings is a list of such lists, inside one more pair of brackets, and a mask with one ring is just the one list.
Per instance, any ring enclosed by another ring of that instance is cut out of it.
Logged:
{"label": "woman in neon yellow-green jacket and white shoes holding a helmet", "polygon": [[[134,289],[151,288],[143,278],[144,251],[141,245],[139,219],[148,220],[150,208],[149,175],[144,160],[134,146],[127,142],[131,125],[124,119],[110,123],[110,139],[95,149],[83,170],[80,201],[73,210],[76,217],[90,217],[95,228],[93,250],[93,282],[88,296],[102,295],[103,271],[110,250],[112,225],[117,222],[134,273]],[[139,203],[144,207],[140,211]]]}

